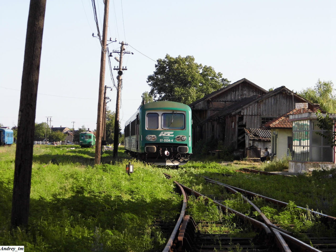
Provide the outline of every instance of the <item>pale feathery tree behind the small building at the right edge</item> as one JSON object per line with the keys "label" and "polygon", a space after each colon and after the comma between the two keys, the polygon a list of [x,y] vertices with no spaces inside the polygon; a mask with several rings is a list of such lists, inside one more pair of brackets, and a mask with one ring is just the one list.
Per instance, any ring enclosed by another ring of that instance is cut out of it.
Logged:
{"label": "pale feathery tree behind the small building at the right edge", "polygon": [[319,79],[314,88],[303,89],[299,95],[313,103],[319,103],[321,109],[329,113],[336,113],[336,96],[333,87],[334,84],[331,81]]}

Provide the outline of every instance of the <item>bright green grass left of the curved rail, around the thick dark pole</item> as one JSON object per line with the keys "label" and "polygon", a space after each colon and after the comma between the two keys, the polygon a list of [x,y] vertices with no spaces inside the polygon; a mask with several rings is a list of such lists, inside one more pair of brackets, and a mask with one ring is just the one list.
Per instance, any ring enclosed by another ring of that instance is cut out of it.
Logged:
{"label": "bright green grass left of the curved rail, around the thick dark pole", "polygon": [[24,245],[27,251],[155,251],[164,246],[166,237],[154,221],[174,221],[181,197],[162,170],[133,160],[136,169],[128,176],[129,160],[92,167],[94,149],[57,147],[34,148],[29,226],[13,232],[15,148],[2,149],[0,244]]}

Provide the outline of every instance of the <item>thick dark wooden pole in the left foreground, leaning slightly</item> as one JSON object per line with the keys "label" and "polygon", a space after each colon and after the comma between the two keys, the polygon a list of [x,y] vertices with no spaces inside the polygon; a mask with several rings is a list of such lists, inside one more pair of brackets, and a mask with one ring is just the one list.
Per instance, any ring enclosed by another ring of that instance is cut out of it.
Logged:
{"label": "thick dark wooden pole in the left foreground, leaning slightly", "polygon": [[27,225],[33,164],[33,143],[46,0],[31,0],[17,123],[12,197],[12,227]]}

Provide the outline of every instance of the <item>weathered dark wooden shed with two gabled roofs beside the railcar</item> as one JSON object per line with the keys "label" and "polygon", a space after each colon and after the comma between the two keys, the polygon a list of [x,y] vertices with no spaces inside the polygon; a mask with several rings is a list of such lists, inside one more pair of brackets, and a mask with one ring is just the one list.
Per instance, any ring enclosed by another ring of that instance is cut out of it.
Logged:
{"label": "weathered dark wooden shed with two gabled roofs beside the railcar", "polygon": [[316,107],[285,86],[267,92],[242,79],[189,105],[193,114],[193,141],[223,140],[224,145],[246,157],[249,141],[245,128],[260,128],[302,102],[308,103],[308,109]]}

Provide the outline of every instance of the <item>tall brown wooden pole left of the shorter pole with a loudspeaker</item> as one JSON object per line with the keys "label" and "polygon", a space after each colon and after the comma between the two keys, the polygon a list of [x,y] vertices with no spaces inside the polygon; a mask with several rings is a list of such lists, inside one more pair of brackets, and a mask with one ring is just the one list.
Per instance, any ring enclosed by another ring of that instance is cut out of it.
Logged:
{"label": "tall brown wooden pole left of the shorter pole with a loudspeaker", "polygon": [[99,95],[98,95],[98,112],[97,112],[97,129],[96,129],[96,150],[94,157],[94,164],[100,164],[101,158],[101,139],[103,127],[103,105],[104,105],[104,82],[105,82],[105,65],[106,65],[106,52],[107,52],[107,31],[109,23],[109,4],[110,0],[105,0],[104,7],[104,21],[103,21],[103,36],[102,48],[100,56],[100,75],[99,75]]}

